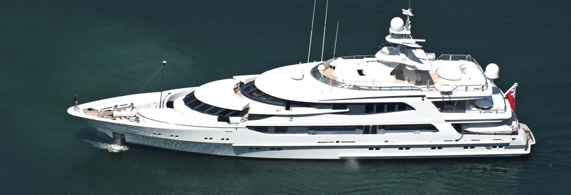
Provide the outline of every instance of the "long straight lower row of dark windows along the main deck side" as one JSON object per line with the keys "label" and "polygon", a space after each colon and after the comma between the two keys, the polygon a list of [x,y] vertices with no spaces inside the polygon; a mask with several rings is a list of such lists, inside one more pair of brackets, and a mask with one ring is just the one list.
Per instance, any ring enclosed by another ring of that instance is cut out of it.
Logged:
{"label": "long straight lower row of dark windows along the main deck side", "polygon": [[382,134],[385,132],[437,132],[431,124],[416,125],[355,125],[355,126],[248,126],[250,130],[262,133],[288,134]]}

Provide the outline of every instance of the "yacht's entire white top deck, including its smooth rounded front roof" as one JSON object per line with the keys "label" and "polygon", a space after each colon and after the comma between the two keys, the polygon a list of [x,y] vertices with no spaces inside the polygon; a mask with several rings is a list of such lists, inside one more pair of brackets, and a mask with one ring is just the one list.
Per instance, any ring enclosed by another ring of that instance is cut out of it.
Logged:
{"label": "yacht's entire white top deck, including its smooth rounded front roof", "polygon": [[[399,64],[379,62],[374,56],[347,56],[336,58],[344,59],[346,63],[334,63],[335,69],[333,66],[322,66],[327,63],[331,65],[334,59],[294,64],[266,71],[257,76],[255,83],[264,93],[280,99],[322,103],[398,97],[459,100],[492,95],[490,81],[482,74],[481,67],[472,56],[462,56],[463,59],[459,58],[460,55],[442,55],[433,60],[435,71],[412,71],[416,79],[419,79],[414,82],[408,79],[411,76],[407,73],[400,72],[399,75],[393,72],[395,68],[392,67]],[[448,75],[441,78],[438,71],[440,67],[456,69],[461,76],[457,80],[447,80]],[[296,71],[301,72],[301,79],[292,78],[299,76],[292,74]]]}

